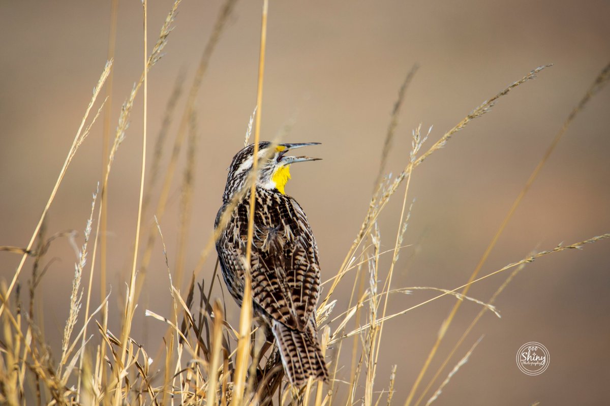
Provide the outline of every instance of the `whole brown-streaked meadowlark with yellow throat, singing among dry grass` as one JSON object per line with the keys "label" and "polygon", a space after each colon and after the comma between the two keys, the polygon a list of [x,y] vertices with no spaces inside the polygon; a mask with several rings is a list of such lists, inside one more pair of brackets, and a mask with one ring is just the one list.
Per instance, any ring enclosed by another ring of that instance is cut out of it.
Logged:
{"label": "whole brown-streaked meadowlark with yellow throat, singing among dry grass", "polygon": [[[328,380],[328,369],[317,337],[315,307],[320,292],[318,246],[307,216],[285,194],[290,165],[318,158],[291,157],[287,152],[319,143],[259,143],[254,238],[251,251],[253,308],[268,327],[268,341],[278,346],[289,382],[303,386],[309,377]],[[241,306],[248,243],[249,187],[254,144],[243,148],[229,166],[223,205],[215,227],[235,193],[246,193],[216,243],[224,282]],[[237,195],[239,196],[239,195]]]}

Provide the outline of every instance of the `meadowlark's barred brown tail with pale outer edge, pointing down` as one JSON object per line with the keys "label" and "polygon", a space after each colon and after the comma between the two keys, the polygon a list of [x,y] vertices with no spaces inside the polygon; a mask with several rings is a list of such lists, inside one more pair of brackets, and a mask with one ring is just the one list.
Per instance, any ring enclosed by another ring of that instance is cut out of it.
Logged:
{"label": "meadowlark's barred brown tail with pale outer edge, pointing down", "polygon": [[293,386],[304,386],[309,377],[328,381],[328,369],[314,329],[301,332],[273,321],[271,331],[278,343],[284,371]]}

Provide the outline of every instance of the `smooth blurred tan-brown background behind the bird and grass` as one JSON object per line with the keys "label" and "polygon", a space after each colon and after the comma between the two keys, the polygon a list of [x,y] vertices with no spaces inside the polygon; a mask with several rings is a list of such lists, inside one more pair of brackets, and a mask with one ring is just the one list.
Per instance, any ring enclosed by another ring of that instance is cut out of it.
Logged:
{"label": "smooth blurred tan-brown background behind the bird and grass", "polygon": [[[150,48],[171,4],[149,2]],[[185,94],[220,7],[216,0],[183,2],[165,56],[149,73],[149,157],[176,79],[185,74],[163,167],[173,148]],[[24,247],[34,231],[106,62],[110,9],[110,1],[0,3],[4,32],[0,36],[0,245]],[[141,12],[136,0],[120,2],[118,7],[112,134],[121,104],[142,72]],[[309,216],[320,248],[323,279],[337,272],[360,228],[390,112],[414,63],[420,69],[407,89],[388,173],[397,174],[406,165],[411,132],[418,124],[425,129],[434,126],[425,150],[481,102],[537,66],[553,63],[536,80],[501,98],[492,112],[473,121],[414,171],[407,199],[417,200],[404,237],[404,244],[410,246],[401,251],[393,287],[453,289],[465,283],[564,119],[609,62],[609,15],[610,3],[602,0],[272,1],[262,139],[282,134],[290,124],[285,141],[322,143],[306,154],[323,160],[293,166],[293,180],[286,191]],[[195,268],[210,236],[226,168],[243,146],[256,104],[259,30],[260,2],[238,2],[196,99],[198,141],[187,274]],[[142,105],[140,93],[109,182],[107,286],[112,287],[111,319],[113,312],[116,316],[110,329],[117,333],[135,235]],[[94,110],[98,106],[99,101]],[[610,231],[609,107],[610,90],[605,89],[576,117],[481,275],[531,251]],[[79,230],[79,245],[91,193],[102,179],[102,121],[103,115],[77,152],[48,213],[48,234]],[[178,255],[185,151],[160,222],[171,267]],[[151,190],[153,206],[159,183]],[[379,219],[384,249],[394,244],[402,194],[403,188]],[[144,221],[148,229],[151,209]],[[59,260],[49,265],[38,298],[44,306],[46,337],[59,351],[76,258],[66,238],[52,244],[46,260],[52,258]],[[211,277],[215,259],[215,254],[210,255],[199,279]],[[19,255],[1,252],[0,279],[10,281],[19,260]],[[444,379],[472,343],[485,336],[436,404],[593,405],[607,401],[609,260],[610,242],[600,241],[582,252],[560,252],[526,266],[498,298],[502,318],[484,316],[449,369],[442,372]],[[30,277],[31,265],[29,260],[21,276],[23,284]],[[487,301],[507,276],[500,274],[473,285],[470,295]],[[336,313],[345,310],[351,285],[351,279],[342,284]],[[185,287],[183,279],[181,289]],[[98,304],[97,286],[94,292],[93,303]],[[213,295],[220,295],[220,290]],[[390,296],[389,312],[432,296],[436,294],[428,291]],[[387,388],[390,368],[398,365],[395,404],[404,402],[454,301],[443,297],[388,322],[376,390]],[[158,332],[165,326],[143,313],[150,309],[169,315],[169,304],[167,269],[157,241],[136,310],[134,338],[156,349],[161,342]],[[227,304],[229,320],[234,321],[237,307],[232,301]],[[420,389],[479,310],[472,302],[462,305]],[[517,350],[528,341],[538,341],[550,352],[550,366],[540,376],[527,376],[515,365]],[[351,343],[343,354],[349,354]],[[339,375],[348,379],[350,359],[340,362],[346,367]]]}

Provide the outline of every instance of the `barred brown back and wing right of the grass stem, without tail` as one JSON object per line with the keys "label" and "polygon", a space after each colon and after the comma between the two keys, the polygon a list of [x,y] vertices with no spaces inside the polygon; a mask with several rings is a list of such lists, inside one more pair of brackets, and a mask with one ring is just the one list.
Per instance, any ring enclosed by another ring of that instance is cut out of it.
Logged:
{"label": "barred brown back and wing right of the grass stem, without tail", "polygon": [[252,252],[254,301],[271,318],[304,330],[320,289],[314,235],[294,199],[266,191],[257,196]]}

